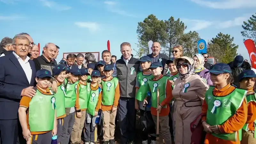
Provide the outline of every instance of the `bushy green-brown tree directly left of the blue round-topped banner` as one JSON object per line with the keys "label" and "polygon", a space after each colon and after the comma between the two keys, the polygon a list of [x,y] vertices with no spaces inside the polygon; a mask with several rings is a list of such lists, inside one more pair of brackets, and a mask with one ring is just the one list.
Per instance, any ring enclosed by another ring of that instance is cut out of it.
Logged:
{"label": "bushy green-brown tree directly left of the blue round-topped banner", "polygon": [[183,47],[183,55],[193,57],[197,51],[197,41],[200,40],[200,36],[196,31],[189,31],[186,34],[180,36],[178,42]]}

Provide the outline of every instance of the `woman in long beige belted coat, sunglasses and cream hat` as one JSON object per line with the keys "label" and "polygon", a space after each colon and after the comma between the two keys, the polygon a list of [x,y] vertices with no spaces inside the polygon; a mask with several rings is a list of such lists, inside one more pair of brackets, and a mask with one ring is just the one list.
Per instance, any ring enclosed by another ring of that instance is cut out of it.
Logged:
{"label": "woman in long beige belted coat, sunglasses and cream hat", "polygon": [[173,63],[179,72],[172,90],[175,98],[175,144],[190,144],[190,123],[202,113],[204,94],[209,86],[194,73],[193,59],[182,56],[174,59]]}

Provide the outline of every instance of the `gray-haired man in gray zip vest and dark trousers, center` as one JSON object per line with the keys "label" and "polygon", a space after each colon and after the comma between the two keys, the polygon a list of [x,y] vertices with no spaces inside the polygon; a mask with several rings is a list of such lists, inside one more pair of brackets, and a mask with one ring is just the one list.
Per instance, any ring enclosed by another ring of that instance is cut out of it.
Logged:
{"label": "gray-haired man in gray zip vest and dark trousers, center", "polygon": [[114,64],[113,76],[118,77],[120,99],[117,106],[117,119],[122,135],[121,143],[132,143],[135,137],[135,83],[140,63],[133,58],[131,44],[124,42],[120,46],[122,57]]}

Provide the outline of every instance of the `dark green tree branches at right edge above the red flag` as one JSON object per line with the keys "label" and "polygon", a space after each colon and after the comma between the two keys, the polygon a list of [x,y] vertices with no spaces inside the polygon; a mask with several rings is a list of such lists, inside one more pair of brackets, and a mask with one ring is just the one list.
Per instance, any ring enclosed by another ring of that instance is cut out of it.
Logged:
{"label": "dark green tree branches at right edge above the red flag", "polygon": [[244,30],[241,31],[242,36],[250,38],[256,43],[256,15],[252,15],[248,22],[244,21],[242,27],[244,28]]}

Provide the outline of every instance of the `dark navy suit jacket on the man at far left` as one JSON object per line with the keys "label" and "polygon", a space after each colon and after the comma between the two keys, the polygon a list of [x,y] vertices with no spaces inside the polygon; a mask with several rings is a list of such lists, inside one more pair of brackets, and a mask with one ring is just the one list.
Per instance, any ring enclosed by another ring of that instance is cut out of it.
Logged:
{"label": "dark navy suit jacket on the man at far left", "polygon": [[34,86],[35,63],[32,60],[28,60],[28,62],[32,69],[30,80],[27,79],[13,53],[0,57],[0,119],[17,119],[22,89]]}

